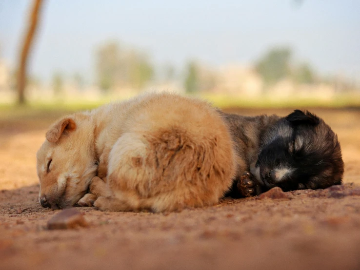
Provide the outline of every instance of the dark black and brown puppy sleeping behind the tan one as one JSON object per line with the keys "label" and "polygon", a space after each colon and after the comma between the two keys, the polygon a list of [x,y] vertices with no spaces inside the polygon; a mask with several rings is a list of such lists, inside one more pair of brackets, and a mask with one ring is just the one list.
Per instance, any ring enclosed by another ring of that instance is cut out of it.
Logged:
{"label": "dark black and brown puppy sleeping behind the tan one", "polygon": [[324,189],[341,184],[344,163],[338,136],[318,116],[296,110],[286,117],[224,114],[230,127],[238,173],[233,197]]}

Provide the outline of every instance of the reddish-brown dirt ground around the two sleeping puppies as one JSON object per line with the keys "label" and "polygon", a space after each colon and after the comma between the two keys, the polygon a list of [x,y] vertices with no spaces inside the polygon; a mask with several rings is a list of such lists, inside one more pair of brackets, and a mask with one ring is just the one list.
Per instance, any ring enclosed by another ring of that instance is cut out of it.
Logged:
{"label": "reddish-brown dirt ground around the two sleeping puppies", "polygon": [[47,230],[60,210],[38,202],[35,153],[58,113],[0,117],[0,269],[360,269],[360,111],[312,111],[339,135],[343,190],[169,214],[78,208],[89,226],[74,230]]}

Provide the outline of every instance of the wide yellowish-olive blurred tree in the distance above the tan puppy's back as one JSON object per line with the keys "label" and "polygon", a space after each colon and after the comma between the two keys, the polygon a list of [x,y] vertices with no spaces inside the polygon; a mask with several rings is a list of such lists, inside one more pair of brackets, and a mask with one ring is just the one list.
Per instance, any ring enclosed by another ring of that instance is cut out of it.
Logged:
{"label": "wide yellowish-olive blurred tree in the distance above the tan puppy's back", "polygon": [[101,46],[96,58],[98,84],[104,91],[114,87],[141,89],[154,75],[153,65],[146,54],[124,49],[117,42]]}

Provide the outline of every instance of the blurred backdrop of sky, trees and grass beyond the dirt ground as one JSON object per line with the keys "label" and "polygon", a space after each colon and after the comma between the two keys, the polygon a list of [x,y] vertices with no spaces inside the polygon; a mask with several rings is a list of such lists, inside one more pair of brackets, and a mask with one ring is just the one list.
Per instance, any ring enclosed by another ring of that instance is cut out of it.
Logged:
{"label": "blurred backdrop of sky, trees and grass beyond the dirt ground", "polygon": [[1,0],[0,104],[358,106],[359,49],[357,0]]}

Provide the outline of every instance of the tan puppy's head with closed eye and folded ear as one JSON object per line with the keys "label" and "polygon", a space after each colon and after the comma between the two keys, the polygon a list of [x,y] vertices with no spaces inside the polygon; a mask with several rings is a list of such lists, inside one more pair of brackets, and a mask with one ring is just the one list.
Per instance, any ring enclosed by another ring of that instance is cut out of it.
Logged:
{"label": "tan puppy's head with closed eye and folded ear", "polygon": [[42,207],[74,206],[97,173],[95,126],[91,116],[75,114],[55,122],[37,153]]}

